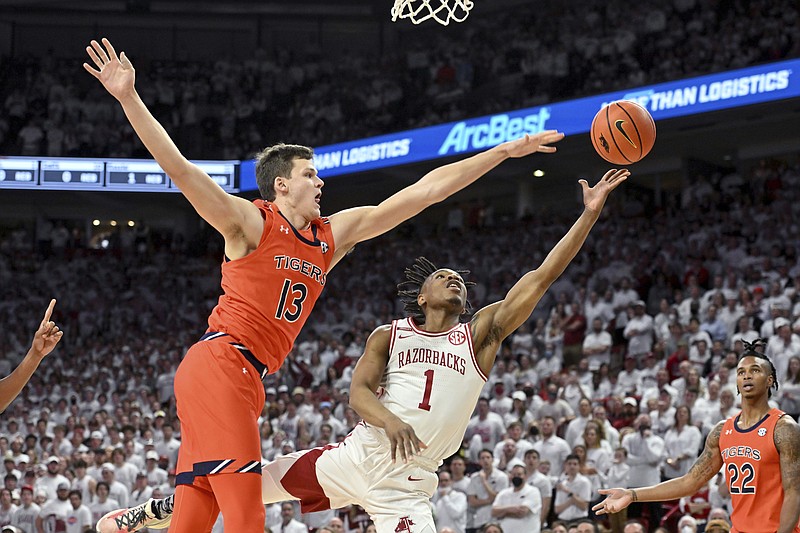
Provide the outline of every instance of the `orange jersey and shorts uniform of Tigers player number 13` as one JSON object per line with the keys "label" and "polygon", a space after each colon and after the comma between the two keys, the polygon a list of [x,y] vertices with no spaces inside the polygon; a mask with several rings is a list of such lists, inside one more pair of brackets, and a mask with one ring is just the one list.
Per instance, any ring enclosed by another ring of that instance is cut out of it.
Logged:
{"label": "orange jersey and shorts uniform of Tigers player number 13", "polygon": [[264,231],[250,254],[222,264],[219,303],[203,340],[178,367],[179,485],[195,477],[261,472],[257,420],[267,373],[276,372],[317,301],[334,254],[326,218],[296,230],[263,200]]}

